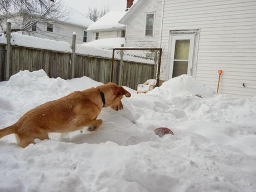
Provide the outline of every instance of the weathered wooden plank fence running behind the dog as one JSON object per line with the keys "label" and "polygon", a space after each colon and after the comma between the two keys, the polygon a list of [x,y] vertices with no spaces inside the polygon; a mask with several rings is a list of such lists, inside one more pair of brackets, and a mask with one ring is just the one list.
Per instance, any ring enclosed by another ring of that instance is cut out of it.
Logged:
{"label": "weathered wooden plank fence running behind the dog", "polygon": [[[6,80],[6,45],[0,44],[0,80]],[[76,54],[74,77],[88,76],[95,81],[110,81],[112,61],[110,58]],[[115,60],[113,82],[119,82],[120,61]],[[43,69],[49,77],[70,79],[72,76],[71,53],[42,50],[38,48],[11,46],[9,76],[20,70]],[[122,86],[137,89],[139,83],[156,78],[156,65],[124,61]]]}

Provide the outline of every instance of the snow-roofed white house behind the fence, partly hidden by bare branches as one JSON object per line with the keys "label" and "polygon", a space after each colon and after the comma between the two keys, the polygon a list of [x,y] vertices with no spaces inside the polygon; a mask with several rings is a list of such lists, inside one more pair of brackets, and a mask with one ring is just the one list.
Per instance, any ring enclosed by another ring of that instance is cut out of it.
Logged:
{"label": "snow-roofed white house behind the fence, partly hidden by bare branches", "polygon": [[[56,41],[66,41],[72,43],[72,34],[76,33],[76,43],[91,41],[90,33],[86,31],[88,26],[93,23],[89,18],[73,11],[62,21],[49,23],[36,23],[30,31],[23,31],[23,35],[30,35],[41,38],[49,38]],[[12,14],[9,19],[13,27],[22,26],[23,16],[20,13]]]}

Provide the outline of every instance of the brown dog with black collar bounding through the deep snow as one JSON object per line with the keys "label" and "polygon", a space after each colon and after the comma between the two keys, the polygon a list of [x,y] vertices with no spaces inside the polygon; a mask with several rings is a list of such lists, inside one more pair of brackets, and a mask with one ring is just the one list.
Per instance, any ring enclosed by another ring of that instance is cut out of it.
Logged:
{"label": "brown dog with black collar bounding through the deep snow", "polygon": [[114,83],[75,91],[26,112],[16,124],[0,130],[0,138],[16,134],[18,145],[26,147],[36,138],[49,139],[48,132],[70,132],[84,126],[95,131],[102,125],[102,120],[96,119],[102,108],[122,110],[123,95],[131,97],[131,93]]}

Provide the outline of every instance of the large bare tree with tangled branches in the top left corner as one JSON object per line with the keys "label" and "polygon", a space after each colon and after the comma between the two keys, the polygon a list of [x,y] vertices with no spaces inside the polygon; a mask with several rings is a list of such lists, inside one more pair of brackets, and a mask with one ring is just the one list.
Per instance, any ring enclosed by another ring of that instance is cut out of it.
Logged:
{"label": "large bare tree with tangled branches in the top left corner", "polygon": [[0,25],[4,31],[4,21],[13,14],[22,16],[20,24],[12,31],[31,31],[36,23],[56,22],[66,16],[62,0],[1,0]]}

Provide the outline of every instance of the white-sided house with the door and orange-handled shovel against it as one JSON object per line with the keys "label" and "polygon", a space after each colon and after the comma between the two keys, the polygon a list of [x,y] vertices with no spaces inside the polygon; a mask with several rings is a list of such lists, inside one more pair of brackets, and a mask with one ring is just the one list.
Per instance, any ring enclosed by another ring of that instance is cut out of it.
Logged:
{"label": "white-sided house with the door and orange-handled shovel against it", "polygon": [[256,96],[256,1],[139,0],[120,20],[125,47],[163,48],[160,80],[195,76],[220,92]]}

